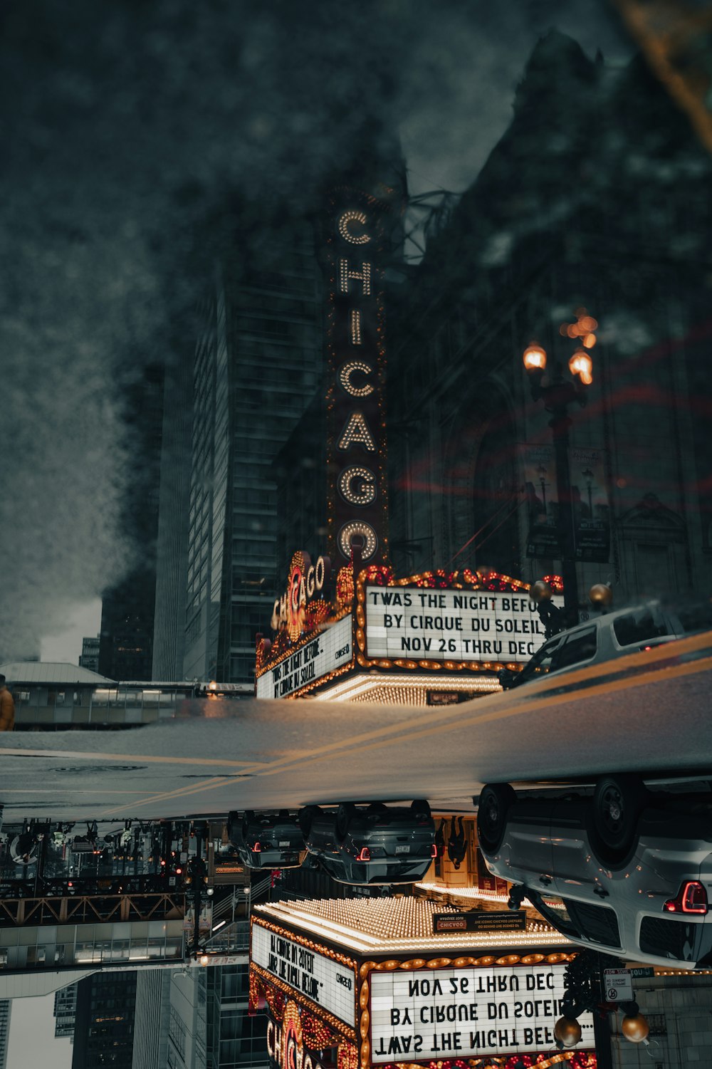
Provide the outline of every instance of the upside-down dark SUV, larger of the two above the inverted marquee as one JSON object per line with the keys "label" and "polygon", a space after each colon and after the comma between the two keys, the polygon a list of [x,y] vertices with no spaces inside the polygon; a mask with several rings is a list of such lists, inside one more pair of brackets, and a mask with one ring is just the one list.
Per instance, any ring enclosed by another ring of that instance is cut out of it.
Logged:
{"label": "upside-down dark SUV, larger of the two above the inverted marquee", "polygon": [[310,856],[339,883],[415,883],[436,856],[435,822],[422,799],[407,807],[307,806],[299,824]]}

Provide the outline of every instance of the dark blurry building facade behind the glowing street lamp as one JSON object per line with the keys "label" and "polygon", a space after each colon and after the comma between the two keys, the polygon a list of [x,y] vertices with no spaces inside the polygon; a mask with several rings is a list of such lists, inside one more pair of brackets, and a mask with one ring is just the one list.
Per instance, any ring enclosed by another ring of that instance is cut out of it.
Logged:
{"label": "dark blurry building facade behind the glowing street lamp", "polygon": [[560,574],[551,414],[522,357],[536,340],[566,375],[585,340],[569,450],[579,605],[606,580],[619,605],[706,589],[710,171],[639,58],[607,71],[562,34],[539,43],[509,129],[391,293],[398,574]]}

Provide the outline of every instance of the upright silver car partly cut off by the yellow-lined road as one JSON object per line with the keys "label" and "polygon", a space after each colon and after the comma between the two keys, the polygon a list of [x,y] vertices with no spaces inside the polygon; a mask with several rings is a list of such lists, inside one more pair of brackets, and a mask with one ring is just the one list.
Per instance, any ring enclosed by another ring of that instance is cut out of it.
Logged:
{"label": "upright silver car partly cut off by the yellow-lined road", "polygon": [[712,630],[712,602],[665,606],[660,601],[606,613],[562,631],[537,650],[521,671],[498,672],[502,690],[530,683],[541,676],[612,661]]}

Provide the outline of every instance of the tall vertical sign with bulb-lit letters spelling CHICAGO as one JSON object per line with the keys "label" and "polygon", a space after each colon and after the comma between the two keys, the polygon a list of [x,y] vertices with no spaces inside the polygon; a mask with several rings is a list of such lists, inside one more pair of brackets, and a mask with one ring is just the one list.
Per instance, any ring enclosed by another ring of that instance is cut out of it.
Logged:
{"label": "tall vertical sign with bulb-lit letters spelling CHICAGO", "polygon": [[388,558],[382,279],[390,206],[346,187],[330,197],[327,235],[328,530],[338,567],[352,544]]}

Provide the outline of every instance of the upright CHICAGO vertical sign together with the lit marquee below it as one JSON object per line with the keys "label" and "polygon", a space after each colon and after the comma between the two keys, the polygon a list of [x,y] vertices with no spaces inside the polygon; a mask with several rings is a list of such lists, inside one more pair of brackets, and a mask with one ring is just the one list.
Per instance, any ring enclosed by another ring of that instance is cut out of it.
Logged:
{"label": "upright CHICAGO vertical sign together with the lit marquee below it", "polygon": [[467,569],[396,579],[389,567],[383,275],[397,215],[383,184],[329,199],[328,557],[293,556],[273,635],[258,637],[259,698],[448,704],[498,690],[496,670],[544,640],[524,583]]}

